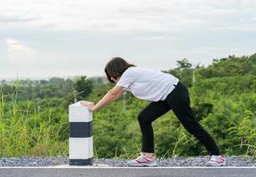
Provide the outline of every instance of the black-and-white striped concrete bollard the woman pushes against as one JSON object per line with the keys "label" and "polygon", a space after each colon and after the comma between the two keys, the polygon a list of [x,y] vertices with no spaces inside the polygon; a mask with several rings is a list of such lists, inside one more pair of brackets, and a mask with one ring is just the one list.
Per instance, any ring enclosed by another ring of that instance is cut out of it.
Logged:
{"label": "black-and-white striped concrete bollard the woman pushes against", "polygon": [[69,165],[92,165],[92,112],[77,102],[68,107]]}

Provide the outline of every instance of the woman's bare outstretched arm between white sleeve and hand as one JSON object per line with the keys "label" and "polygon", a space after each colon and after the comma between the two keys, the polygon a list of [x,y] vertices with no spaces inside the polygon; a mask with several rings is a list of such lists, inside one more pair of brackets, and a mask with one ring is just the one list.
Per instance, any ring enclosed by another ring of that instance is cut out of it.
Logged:
{"label": "woman's bare outstretched arm between white sleeve and hand", "polygon": [[107,104],[112,103],[117,98],[122,96],[124,92],[125,90],[123,90],[123,87],[120,87],[120,86],[115,86],[113,89],[110,89],[108,93],[105,96],[103,96],[100,99],[100,101],[92,107],[92,112],[98,111],[100,110],[100,108],[106,106]]}

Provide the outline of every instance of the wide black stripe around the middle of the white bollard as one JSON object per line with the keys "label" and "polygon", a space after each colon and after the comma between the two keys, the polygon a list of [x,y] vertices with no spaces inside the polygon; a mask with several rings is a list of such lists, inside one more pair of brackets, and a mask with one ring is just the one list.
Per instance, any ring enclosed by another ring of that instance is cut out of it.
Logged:
{"label": "wide black stripe around the middle of the white bollard", "polygon": [[92,136],[92,121],[69,122],[69,137],[87,138]]}

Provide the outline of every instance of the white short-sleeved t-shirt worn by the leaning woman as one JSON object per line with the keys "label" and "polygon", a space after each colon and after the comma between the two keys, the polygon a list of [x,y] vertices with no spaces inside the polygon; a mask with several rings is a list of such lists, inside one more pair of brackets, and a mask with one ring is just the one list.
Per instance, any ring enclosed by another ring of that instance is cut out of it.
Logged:
{"label": "white short-sleeved t-shirt worn by the leaning woman", "polygon": [[140,99],[157,102],[164,101],[178,82],[170,73],[132,66],[124,71],[116,85]]}

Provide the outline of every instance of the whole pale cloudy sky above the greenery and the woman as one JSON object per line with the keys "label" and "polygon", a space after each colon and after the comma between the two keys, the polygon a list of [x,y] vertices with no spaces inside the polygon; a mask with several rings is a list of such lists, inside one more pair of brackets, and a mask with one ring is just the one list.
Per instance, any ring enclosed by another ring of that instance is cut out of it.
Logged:
{"label": "whole pale cloudy sky above the greenery and the woman", "polygon": [[255,10],[255,0],[0,1],[0,79],[103,76],[114,57],[163,71],[250,56]]}

